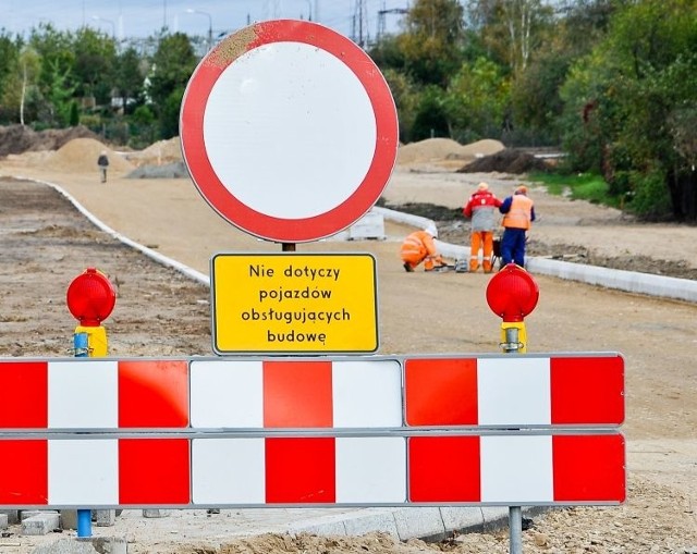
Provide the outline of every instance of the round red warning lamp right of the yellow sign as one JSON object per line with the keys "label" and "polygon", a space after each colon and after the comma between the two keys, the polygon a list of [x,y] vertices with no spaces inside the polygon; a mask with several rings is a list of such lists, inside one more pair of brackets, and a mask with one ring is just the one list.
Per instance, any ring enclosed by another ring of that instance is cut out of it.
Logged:
{"label": "round red warning lamp right of the yellow sign", "polygon": [[523,321],[537,306],[539,296],[533,275],[515,263],[503,267],[487,285],[489,308],[506,322]]}

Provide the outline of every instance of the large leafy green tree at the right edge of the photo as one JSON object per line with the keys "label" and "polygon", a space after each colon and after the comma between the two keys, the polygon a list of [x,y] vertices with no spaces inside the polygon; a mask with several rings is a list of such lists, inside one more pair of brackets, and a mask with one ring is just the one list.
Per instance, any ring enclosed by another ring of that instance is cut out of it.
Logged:
{"label": "large leafy green tree at the right edge of the photo", "polygon": [[574,167],[602,171],[645,217],[697,219],[695,135],[684,123],[697,110],[696,12],[696,0],[628,3],[562,89]]}

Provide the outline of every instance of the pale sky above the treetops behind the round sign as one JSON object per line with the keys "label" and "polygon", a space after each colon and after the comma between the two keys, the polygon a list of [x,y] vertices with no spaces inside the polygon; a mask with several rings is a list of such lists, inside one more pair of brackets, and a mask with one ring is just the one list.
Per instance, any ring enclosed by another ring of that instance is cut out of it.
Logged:
{"label": "pale sky above the treetops behind the round sign", "polygon": [[[380,21],[399,30],[403,19],[393,10],[411,0],[0,0],[0,29],[25,35],[50,22],[59,30],[84,25],[117,38],[156,35],[163,26],[192,36],[222,37],[264,20],[311,19],[350,37],[374,39]],[[379,17],[380,11],[387,11]],[[363,12],[363,17],[360,17]],[[25,35],[26,36],[26,35]]]}

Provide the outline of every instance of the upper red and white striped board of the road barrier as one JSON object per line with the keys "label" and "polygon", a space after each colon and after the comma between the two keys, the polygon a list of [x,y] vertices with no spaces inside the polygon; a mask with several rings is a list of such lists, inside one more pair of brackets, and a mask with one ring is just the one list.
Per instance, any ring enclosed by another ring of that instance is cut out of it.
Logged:
{"label": "upper red and white striped board of the road barrier", "polygon": [[624,364],[616,355],[0,360],[0,429],[597,427],[624,420]]}

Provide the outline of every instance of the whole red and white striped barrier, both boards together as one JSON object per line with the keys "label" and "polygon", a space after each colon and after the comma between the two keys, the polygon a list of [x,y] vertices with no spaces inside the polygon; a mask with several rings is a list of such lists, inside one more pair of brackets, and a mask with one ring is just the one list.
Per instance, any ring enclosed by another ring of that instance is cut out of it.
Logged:
{"label": "whole red and white striped barrier, both boards together", "polygon": [[0,379],[0,506],[625,495],[616,355],[12,359]]}

